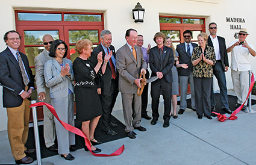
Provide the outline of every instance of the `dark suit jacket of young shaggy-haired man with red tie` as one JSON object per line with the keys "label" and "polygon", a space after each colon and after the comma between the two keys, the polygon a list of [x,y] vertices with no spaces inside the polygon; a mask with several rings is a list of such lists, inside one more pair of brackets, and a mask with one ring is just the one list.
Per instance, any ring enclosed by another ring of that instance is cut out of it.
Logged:
{"label": "dark suit jacket of young shaggy-haired man with red tie", "polygon": [[172,66],[174,61],[172,48],[163,48],[163,69],[161,70],[161,60],[158,47],[149,50],[149,66],[152,70],[151,76],[157,76],[157,72],[163,73],[163,78],[172,83]]}

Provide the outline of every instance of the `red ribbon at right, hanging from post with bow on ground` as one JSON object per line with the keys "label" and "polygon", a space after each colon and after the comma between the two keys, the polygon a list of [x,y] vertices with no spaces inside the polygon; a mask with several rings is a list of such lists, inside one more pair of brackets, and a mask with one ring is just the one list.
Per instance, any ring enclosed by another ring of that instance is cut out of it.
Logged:
{"label": "red ribbon at right, hanging from post with bow on ground", "polygon": [[[252,91],[252,88],[254,87],[254,83],[255,83],[254,73],[252,73],[251,85],[249,87],[249,92],[248,92],[247,98],[245,99],[245,102],[248,99],[248,97],[249,97],[249,95],[250,95],[250,93]],[[239,113],[240,110],[242,110],[243,105],[245,105],[245,102],[243,102],[243,104],[240,107],[238,107],[236,110],[234,110],[234,112],[229,117],[226,117],[225,114],[220,114],[220,113],[216,113],[216,112],[211,112],[211,113],[217,114],[217,119],[220,122],[225,122],[226,119],[235,120],[235,119],[237,119],[236,114]]]}

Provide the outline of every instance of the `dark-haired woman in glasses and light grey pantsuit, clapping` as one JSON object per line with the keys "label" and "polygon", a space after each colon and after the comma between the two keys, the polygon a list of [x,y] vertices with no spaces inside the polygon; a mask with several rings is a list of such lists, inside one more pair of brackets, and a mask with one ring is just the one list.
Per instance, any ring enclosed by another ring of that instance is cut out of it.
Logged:
{"label": "dark-haired woman in glasses and light grey pantsuit, clapping", "polygon": [[[51,104],[63,122],[74,126],[73,102],[73,70],[72,62],[67,56],[67,45],[62,40],[55,40],[50,49],[49,56],[54,57],[45,63],[45,84],[50,89]],[[69,154],[76,149],[75,134],[67,131],[54,117],[58,139],[58,154],[66,160],[73,160]]]}

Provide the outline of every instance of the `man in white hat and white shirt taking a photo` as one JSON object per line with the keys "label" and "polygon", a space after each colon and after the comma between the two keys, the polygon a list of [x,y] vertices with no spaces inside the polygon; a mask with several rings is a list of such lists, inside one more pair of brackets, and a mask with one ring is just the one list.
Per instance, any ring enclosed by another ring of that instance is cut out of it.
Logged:
{"label": "man in white hat and white shirt taking a photo", "polygon": [[[251,70],[251,60],[250,56],[256,56],[256,52],[251,43],[246,42],[247,33],[246,28],[242,28],[239,31],[239,40],[234,40],[228,46],[227,51],[231,52],[231,77],[233,81],[234,91],[237,95],[237,104],[234,106],[236,108],[245,102],[245,106],[242,110],[246,110],[246,97],[249,91],[249,74],[248,71]],[[251,54],[251,55],[250,55]]]}

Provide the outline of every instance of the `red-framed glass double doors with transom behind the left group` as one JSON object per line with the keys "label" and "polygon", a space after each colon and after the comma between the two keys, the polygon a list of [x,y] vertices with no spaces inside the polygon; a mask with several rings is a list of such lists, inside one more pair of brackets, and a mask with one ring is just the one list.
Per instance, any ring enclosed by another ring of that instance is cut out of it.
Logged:
{"label": "red-framed glass double doors with transom behind the left group", "polygon": [[[71,13],[48,11],[15,11],[16,30],[19,32],[21,52],[28,57],[30,67],[34,70],[34,57],[45,48],[42,38],[50,34],[54,40],[60,39],[67,43],[67,58],[75,60],[75,44],[80,39],[89,39],[93,48],[99,45],[99,33],[104,30],[103,13]],[[32,99],[37,99],[33,92]]]}

